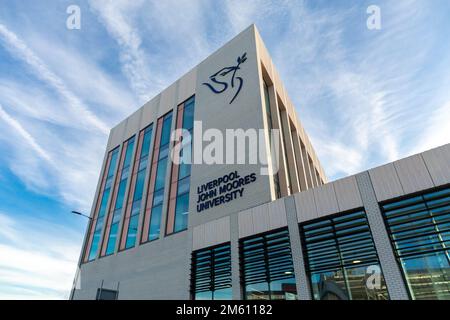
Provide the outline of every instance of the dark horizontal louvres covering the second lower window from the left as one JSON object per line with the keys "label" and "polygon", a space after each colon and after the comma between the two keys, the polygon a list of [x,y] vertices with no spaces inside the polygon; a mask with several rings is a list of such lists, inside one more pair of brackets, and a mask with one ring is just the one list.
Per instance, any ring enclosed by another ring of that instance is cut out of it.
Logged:
{"label": "dark horizontal louvres covering the second lower window from the left", "polygon": [[241,270],[245,285],[292,278],[291,245],[287,229],[241,240]]}

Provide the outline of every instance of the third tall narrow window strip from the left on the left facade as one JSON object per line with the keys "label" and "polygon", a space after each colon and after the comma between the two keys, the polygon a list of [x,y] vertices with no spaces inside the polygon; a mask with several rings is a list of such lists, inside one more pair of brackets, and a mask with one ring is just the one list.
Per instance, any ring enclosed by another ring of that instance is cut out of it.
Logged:
{"label": "third tall narrow window strip from the left on the left facade", "polygon": [[152,171],[145,205],[142,242],[156,240],[160,235],[171,128],[172,112],[159,118],[157,123]]}

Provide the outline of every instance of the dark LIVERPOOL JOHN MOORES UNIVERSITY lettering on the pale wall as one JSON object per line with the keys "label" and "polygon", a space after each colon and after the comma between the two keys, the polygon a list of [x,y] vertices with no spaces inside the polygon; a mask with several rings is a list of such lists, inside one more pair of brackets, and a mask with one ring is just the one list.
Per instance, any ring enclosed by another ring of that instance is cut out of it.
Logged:
{"label": "dark LIVERPOOL JOHN MOORES UNIVERSITY lettering on the pale wall", "polygon": [[197,212],[242,198],[245,186],[256,181],[256,173],[241,177],[237,171],[197,187]]}

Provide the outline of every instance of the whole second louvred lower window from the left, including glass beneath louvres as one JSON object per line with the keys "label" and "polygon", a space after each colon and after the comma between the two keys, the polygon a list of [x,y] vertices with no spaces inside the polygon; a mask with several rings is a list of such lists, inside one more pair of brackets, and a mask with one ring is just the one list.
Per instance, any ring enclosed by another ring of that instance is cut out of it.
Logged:
{"label": "whole second louvred lower window from the left, including glass beneath louvres", "polygon": [[294,266],[287,228],[240,241],[246,300],[295,300]]}

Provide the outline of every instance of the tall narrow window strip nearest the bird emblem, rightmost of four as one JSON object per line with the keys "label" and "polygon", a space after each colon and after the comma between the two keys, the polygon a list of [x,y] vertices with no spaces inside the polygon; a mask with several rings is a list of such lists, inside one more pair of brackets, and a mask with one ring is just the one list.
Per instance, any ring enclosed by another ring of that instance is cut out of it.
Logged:
{"label": "tall narrow window strip nearest the bird emblem, rightmost of four", "polygon": [[172,164],[166,234],[180,232],[188,227],[194,105],[195,99],[192,97],[178,106],[177,129],[184,129],[189,135],[177,142],[181,145],[180,152],[175,157],[181,161],[178,161],[180,164]]}

